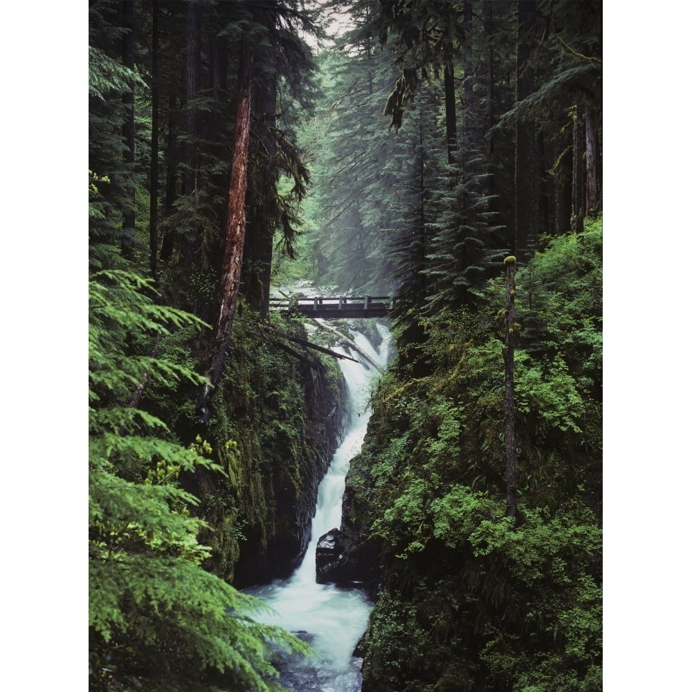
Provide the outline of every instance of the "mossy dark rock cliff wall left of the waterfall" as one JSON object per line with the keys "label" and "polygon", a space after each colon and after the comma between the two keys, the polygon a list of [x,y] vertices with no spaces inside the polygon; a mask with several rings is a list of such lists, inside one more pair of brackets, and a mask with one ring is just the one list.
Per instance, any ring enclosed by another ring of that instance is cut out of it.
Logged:
{"label": "mossy dark rock cliff wall left of the waterfall", "polygon": [[334,358],[285,336],[302,322],[262,326],[244,310],[212,399],[212,454],[226,475],[194,480],[210,529],[206,568],[237,588],[286,576],[310,539],[317,489],[343,433],[345,383]]}

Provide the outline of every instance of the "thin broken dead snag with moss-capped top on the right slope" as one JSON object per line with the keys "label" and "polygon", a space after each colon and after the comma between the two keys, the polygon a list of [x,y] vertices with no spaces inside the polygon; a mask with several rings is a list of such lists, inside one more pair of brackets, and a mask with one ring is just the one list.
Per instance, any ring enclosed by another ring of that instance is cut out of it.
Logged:
{"label": "thin broken dead snag with moss-capped top on the right slope", "polygon": [[516,257],[504,259],[506,269],[504,293],[505,317],[504,330],[504,458],[507,462],[507,511],[508,517],[517,515],[517,475],[516,445],[514,444],[514,342],[517,325],[514,322],[514,273]]}

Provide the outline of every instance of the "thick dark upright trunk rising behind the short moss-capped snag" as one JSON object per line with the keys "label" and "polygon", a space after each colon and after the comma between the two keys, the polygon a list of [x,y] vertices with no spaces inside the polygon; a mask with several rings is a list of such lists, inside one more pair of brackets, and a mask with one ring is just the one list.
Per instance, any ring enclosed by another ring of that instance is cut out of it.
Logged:
{"label": "thick dark upright trunk rising behind the short moss-capped snag", "polygon": [[[536,0],[517,2],[516,102],[534,91],[531,50],[536,25]],[[536,237],[536,142],[533,122],[516,122],[514,163],[515,226],[514,253],[520,257],[527,239]]]}

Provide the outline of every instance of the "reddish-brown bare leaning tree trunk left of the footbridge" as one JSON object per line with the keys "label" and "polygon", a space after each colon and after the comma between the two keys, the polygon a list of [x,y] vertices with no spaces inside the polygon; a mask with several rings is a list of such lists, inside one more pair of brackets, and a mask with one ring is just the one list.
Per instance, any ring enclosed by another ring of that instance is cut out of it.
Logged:
{"label": "reddish-brown bare leaning tree trunk left of the footbridge", "polygon": [[221,307],[217,321],[211,365],[207,372],[209,383],[204,386],[198,408],[203,422],[208,420],[207,402],[224,372],[230,331],[233,326],[235,303],[240,287],[240,270],[245,242],[245,196],[248,188],[248,143],[250,141],[250,101],[254,62],[253,48],[247,37],[240,44],[238,97],[233,131],[233,154],[228,185],[228,215],[226,216],[226,246],[221,268]]}

